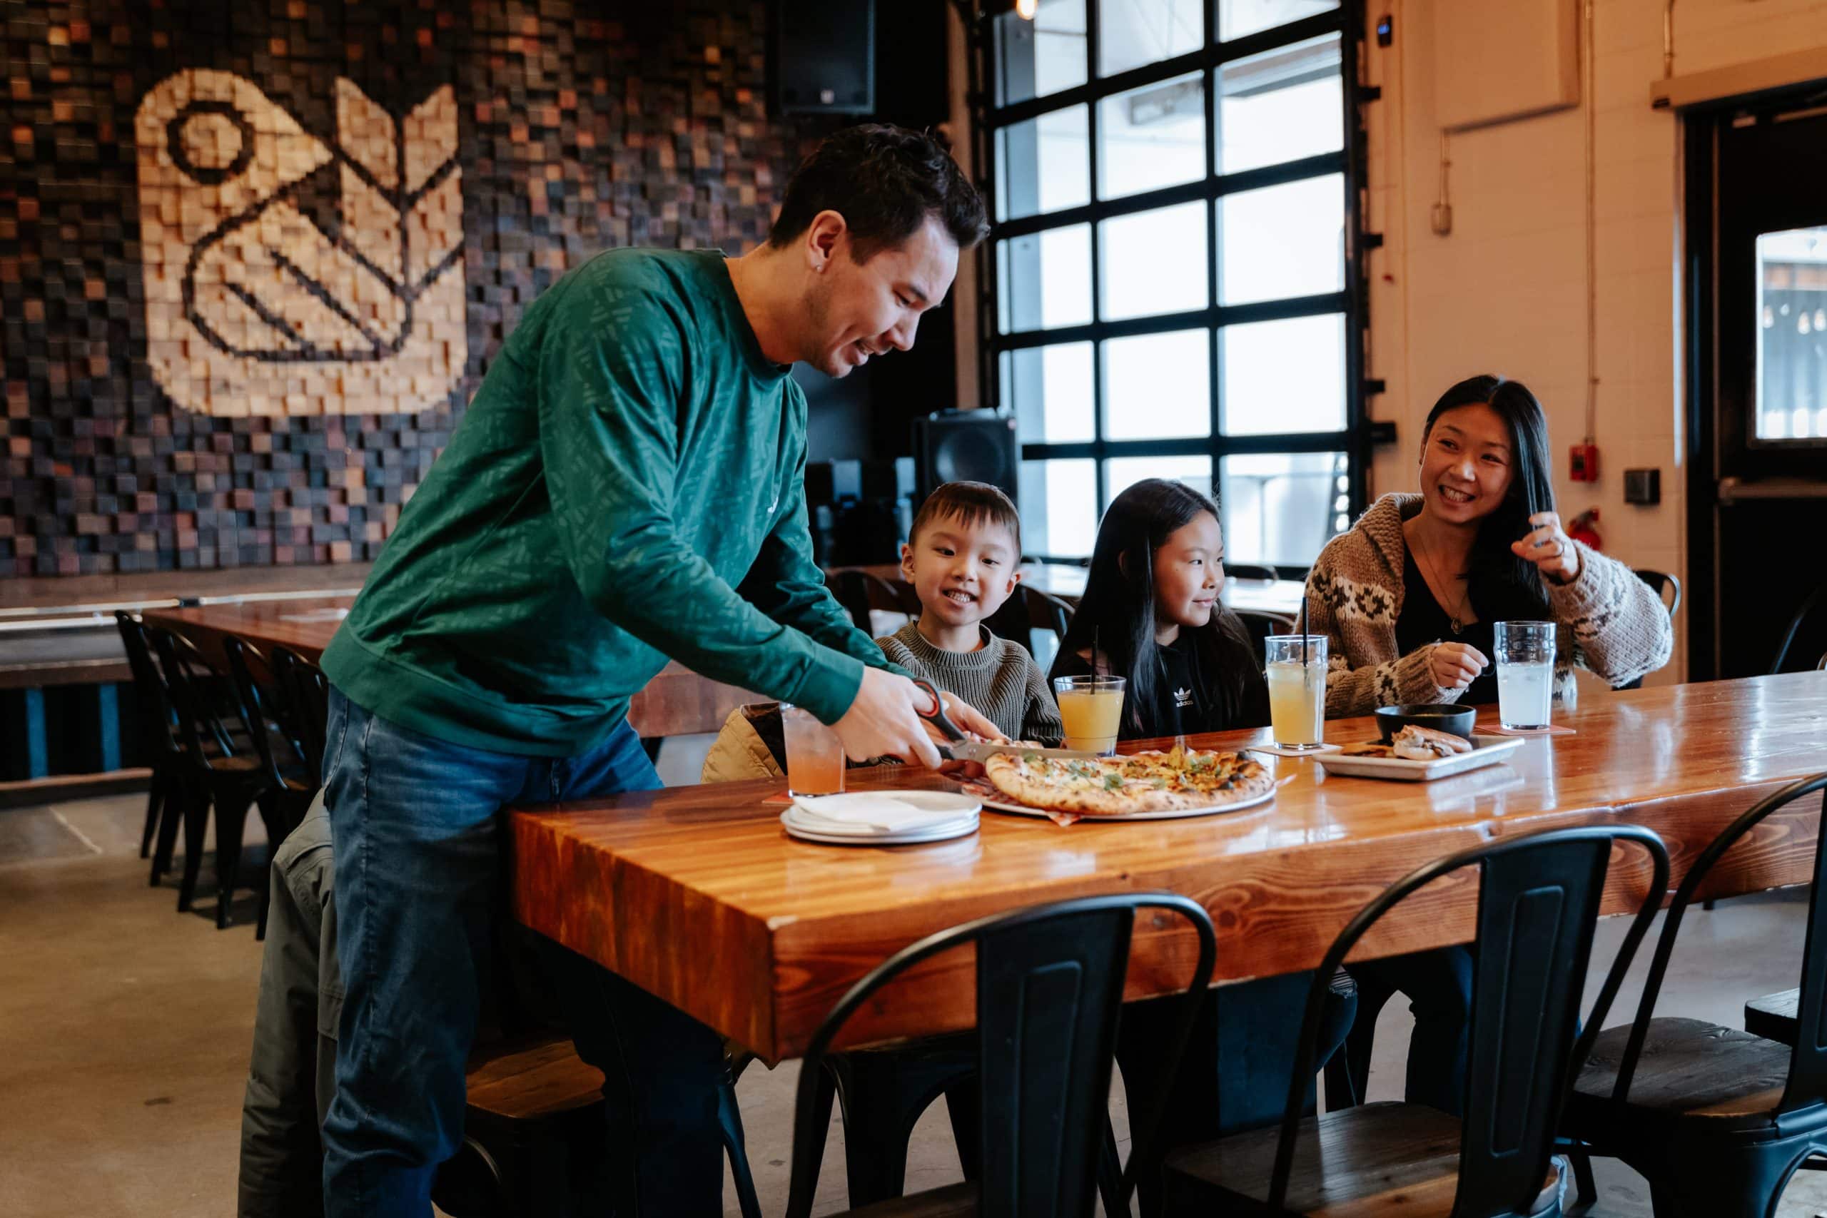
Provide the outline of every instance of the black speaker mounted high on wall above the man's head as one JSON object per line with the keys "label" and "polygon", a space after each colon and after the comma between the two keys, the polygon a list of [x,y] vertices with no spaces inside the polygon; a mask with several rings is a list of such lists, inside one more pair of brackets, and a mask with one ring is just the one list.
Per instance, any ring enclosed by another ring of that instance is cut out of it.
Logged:
{"label": "black speaker mounted high on wall above the man's head", "polygon": [[769,7],[775,113],[875,113],[875,0],[776,0]]}

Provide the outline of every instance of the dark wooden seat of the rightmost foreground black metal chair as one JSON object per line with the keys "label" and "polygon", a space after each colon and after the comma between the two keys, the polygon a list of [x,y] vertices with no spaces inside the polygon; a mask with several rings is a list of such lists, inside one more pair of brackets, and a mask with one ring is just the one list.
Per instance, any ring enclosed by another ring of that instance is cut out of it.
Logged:
{"label": "dark wooden seat of the rightmost foreground black metal chair", "polygon": [[[1568,1103],[1571,1132],[1617,1119],[1611,1088],[1630,1024],[1606,1028]],[[1705,1121],[1712,1130],[1774,1119],[1789,1083],[1789,1048],[1705,1019],[1652,1019],[1624,1110],[1637,1119]]]}

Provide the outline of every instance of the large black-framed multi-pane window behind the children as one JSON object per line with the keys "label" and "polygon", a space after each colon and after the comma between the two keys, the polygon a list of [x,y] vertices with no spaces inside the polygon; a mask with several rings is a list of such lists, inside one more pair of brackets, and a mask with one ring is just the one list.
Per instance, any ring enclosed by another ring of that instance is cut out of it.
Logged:
{"label": "large black-framed multi-pane window behind the children", "polygon": [[1040,0],[994,18],[985,376],[1043,557],[1131,482],[1219,489],[1233,562],[1306,566],[1363,500],[1356,16]]}

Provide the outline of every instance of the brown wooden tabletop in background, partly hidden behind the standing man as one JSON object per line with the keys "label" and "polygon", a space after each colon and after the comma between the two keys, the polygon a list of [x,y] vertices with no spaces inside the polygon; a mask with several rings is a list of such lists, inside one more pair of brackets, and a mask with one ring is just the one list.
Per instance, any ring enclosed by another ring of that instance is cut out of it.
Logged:
{"label": "brown wooden tabletop in background, partly hidden behind the standing man", "polygon": [[[316,663],[342,625],[354,597],[199,604],[194,608],[146,610],[143,617],[185,635],[210,663],[227,663],[223,637],[236,634],[256,645],[281,645]],[[643,738],[714,732],[729,712],[758,694],[698,676],[669,663],[628,703],[628,723]]]}

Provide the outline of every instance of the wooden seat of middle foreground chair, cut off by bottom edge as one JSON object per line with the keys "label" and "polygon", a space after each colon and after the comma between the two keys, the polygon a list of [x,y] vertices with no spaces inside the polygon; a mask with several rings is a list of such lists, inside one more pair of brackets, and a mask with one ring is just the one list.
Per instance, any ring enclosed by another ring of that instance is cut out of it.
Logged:
{"label": "wooden seat of middle foreground chair, cut off by bottom edge", "polygon": [[[1167,1156],[1171,1207],[1268,1214],[1277,1130]],[[1557,1213],[1566,1163],[1547,1163],[1531,1214]],[[1301,1121],[1288,1203],[1306,1218],[1447,1218],[1460,1187],[1460,1121],[1418,1103],[1368,1103]]]}

